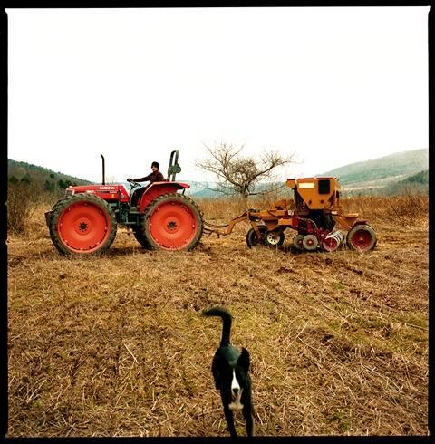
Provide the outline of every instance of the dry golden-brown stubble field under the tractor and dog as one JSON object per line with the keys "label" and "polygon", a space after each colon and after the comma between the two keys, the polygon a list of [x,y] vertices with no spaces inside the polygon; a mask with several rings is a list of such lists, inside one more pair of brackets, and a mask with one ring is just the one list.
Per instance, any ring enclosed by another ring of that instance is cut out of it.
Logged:
{"label": "dry golden-brown stubble field under the tractor and dog", "polygon": [[[296,254],[291,232],[248,249],[240,225],[188,253],[119,229],[108,254],[71,258],[38,207],[7,241],[8,436],[228,436],[221,324],[200,315],[215,304],[251,354],[256,435],[426,435],[427,198],[344,204],[375,228],[372,252]],[[240,209],[199,205],[215,223]]]}

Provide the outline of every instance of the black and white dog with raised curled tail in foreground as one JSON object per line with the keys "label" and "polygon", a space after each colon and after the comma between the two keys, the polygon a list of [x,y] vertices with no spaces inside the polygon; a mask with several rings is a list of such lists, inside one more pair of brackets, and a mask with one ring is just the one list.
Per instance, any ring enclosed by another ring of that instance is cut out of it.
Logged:
{"label": "black and white dog with raised curled tail in foreground", "polygon": [[239,352],[229,343],[232,317],[227,309],[213,307],[204,310],[202,314],[221,317],[223,322],[222,339],[213,358],[211,372],[216,388],[220,391],[229,433],[231,437],[237,438],[233,410],[242,410],[247,424],[247,436],[251,437],[254,434],[254,420],[251,378],[249,376],[249,352],[246,348],[242,348],[242,352]]}

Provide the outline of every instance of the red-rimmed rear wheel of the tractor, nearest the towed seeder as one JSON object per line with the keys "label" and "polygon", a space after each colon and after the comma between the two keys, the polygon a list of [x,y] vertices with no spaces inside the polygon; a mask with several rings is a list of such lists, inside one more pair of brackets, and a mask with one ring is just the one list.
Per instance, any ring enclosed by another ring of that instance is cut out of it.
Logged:
{"label": "red-rimmed rear wheel of the tractor, nearest the towed seeder", "polygon": [[197,246],[202,230],[201,210],[182,194],[164,194],[145,208],[144,233],[151,248],[191,250]]}

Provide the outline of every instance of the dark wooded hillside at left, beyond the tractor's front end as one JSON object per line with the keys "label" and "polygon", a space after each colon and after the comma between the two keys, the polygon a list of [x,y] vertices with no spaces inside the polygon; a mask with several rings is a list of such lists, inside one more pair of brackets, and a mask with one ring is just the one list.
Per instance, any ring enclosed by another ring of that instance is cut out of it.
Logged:
{"label": "dark wooded hillside at left, beyond the tractor's front end", "polygon": [[47,191],[66,188],[68,185],[88,185],[89,180],[74,178],[60,171],[38,167],[32,163],[7,159],[7,179],[9,182],[26,181]]}

